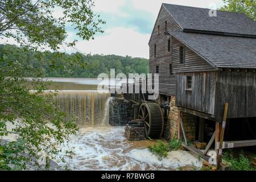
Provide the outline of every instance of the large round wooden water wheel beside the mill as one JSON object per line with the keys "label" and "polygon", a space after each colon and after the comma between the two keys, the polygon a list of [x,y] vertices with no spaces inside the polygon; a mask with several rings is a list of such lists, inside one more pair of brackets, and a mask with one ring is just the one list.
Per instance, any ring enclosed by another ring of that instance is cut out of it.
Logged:
{"label": "large round wooden water wheel beside the mill", "polygon": [[163,133],[164,119],[157,103],[142,103],[139,107],[139,119],[144,122],[146,137],[159,138]]}

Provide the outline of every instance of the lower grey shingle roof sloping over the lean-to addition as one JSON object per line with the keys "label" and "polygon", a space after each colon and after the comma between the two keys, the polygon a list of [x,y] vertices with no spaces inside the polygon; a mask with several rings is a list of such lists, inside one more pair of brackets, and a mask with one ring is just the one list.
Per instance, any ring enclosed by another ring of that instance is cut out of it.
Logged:
{"label": "lower grey shingle roof sloping over the lean-to addition", "polygon": [[216,68],[256,68],[256,39],[170,31]]}

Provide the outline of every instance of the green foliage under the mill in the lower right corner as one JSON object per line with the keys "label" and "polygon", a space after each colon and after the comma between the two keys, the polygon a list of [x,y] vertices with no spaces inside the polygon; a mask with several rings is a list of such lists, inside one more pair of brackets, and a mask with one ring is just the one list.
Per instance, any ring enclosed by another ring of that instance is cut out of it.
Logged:
{"label": "green foliage under the mill in the lower right corner", "polygon": [[251,164],[251,160],[242,153],[235,158],[228,152],[223,156],[224,163],[233,171],[255,171],[256,168]]}

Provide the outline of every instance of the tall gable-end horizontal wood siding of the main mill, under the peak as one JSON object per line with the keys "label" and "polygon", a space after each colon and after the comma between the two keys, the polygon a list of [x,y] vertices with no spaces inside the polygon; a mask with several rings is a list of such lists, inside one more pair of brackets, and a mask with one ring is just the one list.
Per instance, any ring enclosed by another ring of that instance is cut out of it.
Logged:
{"label": "tall gable-end horizontal wood siding of the main mill, under the peak", "polygon": [[[171,51],[168,52],[169,35],[164,34],[165,22],[167,21],[167,29],[181,31],[181,28],[167,10],[162,6],[156,20],[154,30],[150,39],[150,73],[156,73],[156,66],[159,66],[159,93],[167,96],[174,96],[176,89],[176,76],[170,75],[169,65],[172,63]],[[158,26],[160,32],[158,34]],[[172,41],[171,41],[172,42]],[[154,55],[154,47],[156,44],[156,56]]]}

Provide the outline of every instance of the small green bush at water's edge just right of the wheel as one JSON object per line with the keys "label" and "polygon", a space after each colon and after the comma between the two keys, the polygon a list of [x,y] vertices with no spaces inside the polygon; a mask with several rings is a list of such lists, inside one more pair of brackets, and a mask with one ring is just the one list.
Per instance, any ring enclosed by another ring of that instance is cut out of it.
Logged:
{"label": "small green bush at water's edge just right of the wheel", "polygon": [[167,158],[168,152],[179,150],[181,148],[181,140],[172,139],[167,144],[162,142],[162,140],[158,140],[157,144],[154,146],[148,146],[148,149],[158,156],[159,160],[163,158]]}

